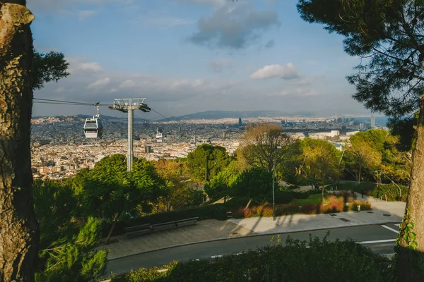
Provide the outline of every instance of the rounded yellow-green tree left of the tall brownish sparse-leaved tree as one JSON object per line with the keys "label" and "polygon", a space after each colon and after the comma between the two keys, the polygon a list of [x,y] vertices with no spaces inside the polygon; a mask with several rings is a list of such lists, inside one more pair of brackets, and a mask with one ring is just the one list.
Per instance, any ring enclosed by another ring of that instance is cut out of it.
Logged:
{"label": "rounded yellow-green tree left of the tall brownish sparse-leaved tree", "polygon": [[203,144],[187,155],[187,166],[190,168],[192,178],[199,182],[207,182],[229,163],[230,157],[225,148],[220,146]]}

